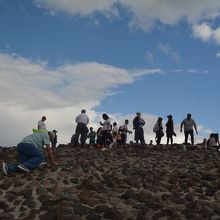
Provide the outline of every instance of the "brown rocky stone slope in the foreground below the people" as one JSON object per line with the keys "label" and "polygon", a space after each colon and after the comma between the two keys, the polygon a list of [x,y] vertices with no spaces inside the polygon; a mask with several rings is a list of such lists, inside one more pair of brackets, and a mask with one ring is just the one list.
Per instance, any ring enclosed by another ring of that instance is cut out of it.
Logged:
{"label": "brown rocky stone slope in the foreground below the people", "polygon": [[[15,148],[0,160],[15,161]],[[0,173],[0,219],[220,219],[220,153],[61,145],[58,166]]]}

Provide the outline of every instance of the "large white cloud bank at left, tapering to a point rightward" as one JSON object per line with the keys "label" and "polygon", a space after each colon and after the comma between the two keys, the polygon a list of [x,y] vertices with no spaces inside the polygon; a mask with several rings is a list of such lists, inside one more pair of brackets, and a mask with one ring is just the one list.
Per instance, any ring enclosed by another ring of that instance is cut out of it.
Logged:
{"label": "large white cloud bank at left, tapering to a point rightward", "polygon": [[0,53],[0,144],[15,145],[36,128],[42,115],[47,116],[48,129],[57,129],[61,142],[66,142],[81,108],[87,109],[95,125],[99,116],[93,109],[103,99],[121,84],[155,73],[160,69],[127,70],[95,62],[51,70],[46,62]]}

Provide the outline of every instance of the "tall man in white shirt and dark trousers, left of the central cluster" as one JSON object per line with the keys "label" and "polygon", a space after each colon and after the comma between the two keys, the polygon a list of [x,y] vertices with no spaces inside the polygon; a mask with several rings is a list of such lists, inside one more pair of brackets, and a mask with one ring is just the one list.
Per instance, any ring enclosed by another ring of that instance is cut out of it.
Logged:
{"label": "tall man in white shirt and dark trousers, left of the central cluster", "polygon": [[82,109],[81,114],[76,117],[75,122],[77,123],[77,126],[73,143],[74,145],[77,145],[80,136],[80,143],[81,145],[84,145],[86,143],[87,133],[89,132],[87,127],[89,124],[89,117],[87,116],[85,109]]}

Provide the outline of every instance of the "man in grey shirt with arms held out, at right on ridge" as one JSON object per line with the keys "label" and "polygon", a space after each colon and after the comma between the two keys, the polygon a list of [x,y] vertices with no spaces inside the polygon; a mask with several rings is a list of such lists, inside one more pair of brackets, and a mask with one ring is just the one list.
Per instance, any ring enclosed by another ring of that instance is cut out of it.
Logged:
{"label": "man in grey shirt with arms held out, at right on ridge", "polygon": [[185,144],[188,142],[188,136],[191,137],[191,144],[194,145],[194,131],[195,128],[196,134],[198,134],[197,127],[195,121],[191,118],[191,114],[187,114],[187,118],[185,118],[180,125],[180,132],[183,130],[184,126],[184,135],[185,135]]}

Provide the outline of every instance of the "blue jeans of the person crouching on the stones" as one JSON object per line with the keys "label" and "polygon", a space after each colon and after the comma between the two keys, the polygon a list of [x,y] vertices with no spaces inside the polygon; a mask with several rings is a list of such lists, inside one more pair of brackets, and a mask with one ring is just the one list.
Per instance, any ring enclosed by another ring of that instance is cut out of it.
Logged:
{"label": "blue jeans of the person crouching on the stones", "polygon": [[[43,154],[34,147],[33,144],[28,143],[20,143],[17,146],[17,153],[19,162],[25,165],[29,170],[36,169],[39,164],[43,161]],[[8,164],[9,172],[16,172],[17,165],[16,164]]]}

